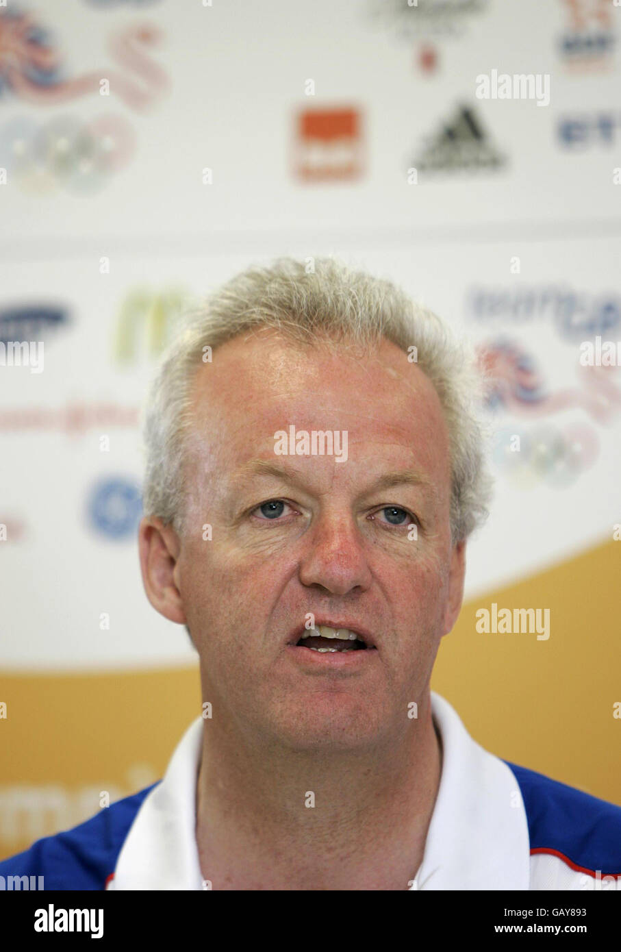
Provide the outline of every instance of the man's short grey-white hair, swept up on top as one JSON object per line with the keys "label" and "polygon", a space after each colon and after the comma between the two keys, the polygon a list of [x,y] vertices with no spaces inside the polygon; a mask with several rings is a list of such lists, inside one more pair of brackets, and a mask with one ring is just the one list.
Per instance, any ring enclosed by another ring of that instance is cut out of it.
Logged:
{"label": "man's short grey-white hair, swept up on top", "polygon": [[[321,340],[373,347],[392,341],[412,357],[437,390],[451,458],[450,525],[455,544],[488,515],[491,480],[487,431],[478,417],[482,377],[470,344],[415,304],[391,281],[352,270],[334,258],[279,258],[244,270],[185,315],[185,327],[162,359],[143,411],[145,515],[183,530],[188,486],[184,452],[192,425],[192,387],[204,361],[244,331],[271,327],[301,346]],[[417,351],[409,350],[416,347]]]}

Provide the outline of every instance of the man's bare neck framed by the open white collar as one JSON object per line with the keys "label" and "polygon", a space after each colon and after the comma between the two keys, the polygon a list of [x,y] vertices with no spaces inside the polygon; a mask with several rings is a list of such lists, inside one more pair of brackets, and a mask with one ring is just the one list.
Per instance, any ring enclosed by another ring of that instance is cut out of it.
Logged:
{"label": "man's bare neck framed by the open white collar", "polygon": [[431,699],[394,744],[292,752],[204,731],[196,839],[214,889],[407,889],[441,773]]}

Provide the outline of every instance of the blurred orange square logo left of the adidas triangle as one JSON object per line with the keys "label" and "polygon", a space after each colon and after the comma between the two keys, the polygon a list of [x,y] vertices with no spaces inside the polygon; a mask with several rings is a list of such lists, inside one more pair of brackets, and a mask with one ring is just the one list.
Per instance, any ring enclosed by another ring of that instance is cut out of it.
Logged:
{"label": "blurred orange square logo left of the adidas triangle", "polygon": [[296,117],[293,168],[303,182],[359,178],[363,169],[359,109],[301,109]]}

